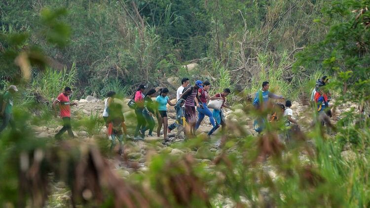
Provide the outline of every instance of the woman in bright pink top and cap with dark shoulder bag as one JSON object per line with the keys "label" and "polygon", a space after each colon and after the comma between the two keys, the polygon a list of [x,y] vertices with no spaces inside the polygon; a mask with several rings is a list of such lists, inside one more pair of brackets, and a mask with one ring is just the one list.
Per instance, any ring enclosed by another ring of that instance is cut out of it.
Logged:
{"label": "woman in bright pink top and cap with dark shoulder bag", "polygon": [[140,84],[139,87],[136,89],[134,101],[136,105],[135,114],[136,119],[138,120],[138,124],[136,125],[134,139],[136,140],[144,140],[144,133],[141,132],[141,135],[139,136],[139,131],[143,128],[145,128],[146,121],[143,116],[143,110],[144,110],[144,90],[146,86],[145,84]]}

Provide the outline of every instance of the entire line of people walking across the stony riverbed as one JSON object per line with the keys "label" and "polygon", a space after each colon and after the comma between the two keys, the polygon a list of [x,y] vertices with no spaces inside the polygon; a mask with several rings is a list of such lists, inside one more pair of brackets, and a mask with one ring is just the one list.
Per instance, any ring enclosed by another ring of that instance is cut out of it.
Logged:
{"label": "entire line of people walking across the stony riverbed", "polygon": [[[323,87],[326,83],[328,83],[328,80],[328,77],[324,76],[316,82],[316,86],[312,91],[311,101],[317,106],[317,112],[320,121],[323,124],[327,123],[327,125],[331,125],[329,120],[329,117],[331,117],[331,113],[329,113],[330,94],[328,91],[325,91],[325,88]],[[158,137],[160,136],[163,126],[163,137],[165,140],[167,139],[167,133],[171,132],[175,128],[178,128],[178,135],[184,131],[185,136],[194,136],[205,116],[208,116],[210,124],[213,126],[208,132],[208,135],[214,133],[220,126],[222,126],[223,132],[225,128],[225,121],[222,108],[231,109],[230,106],[226,104],[226,97],[231,93],[231,91],[230,89],[225,88],[222,92],[210,96],[210,87],[211,83],[209,81],[202,82],[198,80],[193,85],[190,85],[189,79],[184,78],[182,79],[181,86],[178,88],[176,93],[176,103],[172,103],[168,97],[168,88],[164,87],[158,91],[155,89],[149,89],[146,94],[144,94],[147,87],[144,84],[140,84],[132,99],[134,105],[129,105],[135,109],[137,118],[134,139],[144,140],[147,130],[147,135],[153,136],[153,130],[155,126],[154,119],[158,121],[156,135]],[[9,123],[12,123],[13,95],[17,91],[18,89],[15,85],[10,85],[8,90],[2,95],[0,115],[2,116],[3,122],[0,126],[0,132]],[[56,106],[59,105],[59,115],[63,120],[63,127],[55,135],[55,138],[57,139],[60,139],[61,135],[65,131],[68,131],[70,137],[74,137],[71,127],[71,106],[77,105],[77,103],[70,102],[71,93],[71,88],[65,87],[64,91],[58,95],[52,104],[55,116],[58,115]],[[111,149],[115,146],[115,138],[118,139],[121,147],[123,135],[129,137],[125,125],[125,118],[122,112],[122,106],[114,102],[115,94],[116,93],[114,91],[107,93],[103,112],[103,119],[106,122],[108,129],[107,134],[111,138]],[[153,100],[154,97],[155,99]],[[261,89],[255,95],[253,106],[260,110],[271,108],[271,106],[268,105],[269,98],[285,99],[281,95],[271,93],[269,91],[269,83],[263,82]],[[210,105],[210,103],[214,100],[221,101],[222,105],[219,109],[214,108],[211,111],[208,105]],[[174,106],[176,110],[176,121],[171,125],[168,125],[167,104]],[[285,105],[278,104],[278,106],[281,109],[280,115],[285,118],[285,125],[297,125],[296,120],[293,119],[293,110],[290,109],[292,106],[291,101],[286,100]],[[197,112],[198,116],[196,116]],[[269,121],[271,122],[275,120],[277,120],[277,114],[272,113]],[[255,130],[261,132],[264,129],[266,122],[267,118],[258,117],[254,124]]]}

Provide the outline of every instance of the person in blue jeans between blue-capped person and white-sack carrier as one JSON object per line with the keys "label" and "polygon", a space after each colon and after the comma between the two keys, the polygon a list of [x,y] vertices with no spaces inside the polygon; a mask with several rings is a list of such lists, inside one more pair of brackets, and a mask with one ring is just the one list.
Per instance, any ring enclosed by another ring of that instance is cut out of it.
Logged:
{"label": "person in blue jeans between blue-capped person and white-sack carrier", "polygon": [[195,129],[199,128],[200,123],[203,121],[205,116],[209,117],[209,121],[211,122],[212,126],[215,127],[215,119],[213,118],[212,112],[207,107],[207,100],[210,98],[208,95],[208,90],[211,87],[211,83],[208,81],[205,81],[203,83],[203,88],[198,89],[198,95],[200,98],[200,101],[203,104],[203,108],[199,108],[198,100],[195,99],[195,102],[197,103],[196,110],[198,111],[198,120],[195,124]]}

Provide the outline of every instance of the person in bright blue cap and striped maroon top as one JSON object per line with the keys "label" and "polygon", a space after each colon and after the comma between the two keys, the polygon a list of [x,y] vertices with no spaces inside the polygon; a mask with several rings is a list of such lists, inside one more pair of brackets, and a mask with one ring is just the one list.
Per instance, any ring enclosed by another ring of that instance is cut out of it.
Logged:
{"label": "person in bright blue cap and striped maroon top", "polygon": [[196,112],[195,112],[195,104],[194,99],[196,98],[199,102],[200,108],[203,108],[202,101],[199,98],[198,90],[203,88],[203,82],[197,80],[194,86],[187,86],[184,89],[184,93],[180,96],[181,99],[185,100],[185,118],[188,122],[188,130],[187,135],[194,135],[195,134],[195,122],[196,122]]}

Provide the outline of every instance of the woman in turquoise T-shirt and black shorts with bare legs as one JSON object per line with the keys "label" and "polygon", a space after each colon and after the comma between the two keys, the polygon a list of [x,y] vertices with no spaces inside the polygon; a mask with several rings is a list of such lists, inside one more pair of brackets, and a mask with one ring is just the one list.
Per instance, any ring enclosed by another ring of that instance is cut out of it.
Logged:
{"label": "woman in turquoise T-shirt and black shorts with bare legs", "polygon": [[169,92],[168,88],[164,87],[159,90],[159,95],[155,98],[155,101],[158,103],[158,112],[159,112],[159,120],[158,120],[158,128],[157,128],[157,136],[160,136],[160,131],[163,125],[163,137],[164,140],[167,139],[167,127],[168,127],[168,117],[167,117],[167,104],[170,106],[175,106],[175,103],[172,103],[170,98],[168,98],[167,94]]}

